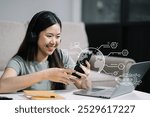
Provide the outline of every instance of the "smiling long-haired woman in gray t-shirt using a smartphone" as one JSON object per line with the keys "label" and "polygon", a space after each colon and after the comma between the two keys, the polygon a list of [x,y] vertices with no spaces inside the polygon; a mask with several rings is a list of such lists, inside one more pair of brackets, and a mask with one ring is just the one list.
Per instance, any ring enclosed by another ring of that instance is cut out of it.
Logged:
{"label": "smiling long-haired woman in gray t-shirt using a smartphone", "polygon": [[[73,60],[57,49],[61,42],[62,25],[60,19],[50,11],[41,11],[31,19],[25,38],[18,52],[8,62],[0,81],[0,93],[10,93],[23,89],[50,90],[65,89],[74,83],[77,88],[90,87],[87,68],[81,66],[85,74],[76,72],[80,79],[71,75]],[[64,68],[68,66],[68,68]]]}

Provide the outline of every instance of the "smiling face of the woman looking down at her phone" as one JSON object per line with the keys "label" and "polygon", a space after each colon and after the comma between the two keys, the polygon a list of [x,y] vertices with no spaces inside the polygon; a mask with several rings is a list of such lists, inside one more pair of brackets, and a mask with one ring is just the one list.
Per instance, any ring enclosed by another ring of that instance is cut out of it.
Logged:
{"label": "smiling face of the woman looking down at her phone", "polygon": [[38,56],[46,57],[53,54],[60,44],[60,25],[54,24],[41,31],[38,39]]}

